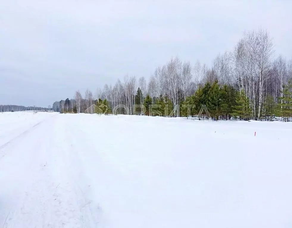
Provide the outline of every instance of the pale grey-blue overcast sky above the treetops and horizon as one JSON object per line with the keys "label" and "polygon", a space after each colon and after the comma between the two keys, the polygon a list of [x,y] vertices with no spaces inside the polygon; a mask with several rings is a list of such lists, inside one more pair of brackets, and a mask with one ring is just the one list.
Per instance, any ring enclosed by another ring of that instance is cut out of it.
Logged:
{"label": "pale grey-blue overcast sky above the treetops and horizon", "polygon": [[290,0],[0,0],[0,104],[52,105],[171,56],[211,64],[262,27],[292,57]]}

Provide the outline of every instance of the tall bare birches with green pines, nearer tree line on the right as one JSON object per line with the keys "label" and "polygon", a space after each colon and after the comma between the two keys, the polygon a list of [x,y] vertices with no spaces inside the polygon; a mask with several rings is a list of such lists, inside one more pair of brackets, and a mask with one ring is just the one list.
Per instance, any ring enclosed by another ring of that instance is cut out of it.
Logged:
{"label": "tall bare birches with green pines, nearer tree line on the right", "polygon": [[[107,105],[117,114],[135,114],[135,105],[158,105],[163,116],[165,106],[173,116],[186,116],[186,105],[193,105],[190,114],[198,114],[206,105],[213,119],[291,120],[292,59],[275,57],[274,41],[268,31],[248,31],[233,50],[218,54],[209,67],[199,60],[192,65],[172,57],[157,67],[148,83],[144,77],[125,76],[115,85],[90,90],[84,98],[76,91],[74,98],[55,102],[61,112],[88,112],[92,104]],[[138,89],[137,89],[138,88]],[[116,109],[115,107],[120,107]],[[127,107],[128,112],[123,107]],[[139,108],[138,108],[139,109]],[[90,110],[91,111],[91,110]],[[142,111],[140,109],[140,111]]]}

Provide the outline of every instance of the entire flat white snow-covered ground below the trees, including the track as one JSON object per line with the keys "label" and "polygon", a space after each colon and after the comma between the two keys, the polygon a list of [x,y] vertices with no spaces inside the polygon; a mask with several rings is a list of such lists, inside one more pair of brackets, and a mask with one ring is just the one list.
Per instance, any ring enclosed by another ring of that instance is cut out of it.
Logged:
{"label": "entire flat white snow-covered ground below the trees, including the track", "polygon": [[292,227],[291,136],[283,122],[0,113],[0,227]]}

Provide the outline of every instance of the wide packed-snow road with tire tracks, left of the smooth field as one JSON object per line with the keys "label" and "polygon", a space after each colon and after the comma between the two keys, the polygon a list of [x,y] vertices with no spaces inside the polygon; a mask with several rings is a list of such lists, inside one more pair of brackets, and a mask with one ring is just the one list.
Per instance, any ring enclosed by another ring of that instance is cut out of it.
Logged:
{"label": "wide packed-snow road with tire tracks, left of the smooth field", "polygon": [[[8,180],[0,174],[2,184],[13,189],[10,199],[5,200],[0,224],[3,228],[97,227],[99,206],[91,200],[90,182],[77,151],[82,143],[76,142],[76,148],[72,145],[78,129],[70,126],[67,116],[47,120],[5,147],[13,156],[0,160],[1,165],[6,163],[0,170],[14,176]],[[27,149],[23,151],[23,147]]]}

